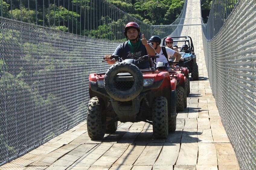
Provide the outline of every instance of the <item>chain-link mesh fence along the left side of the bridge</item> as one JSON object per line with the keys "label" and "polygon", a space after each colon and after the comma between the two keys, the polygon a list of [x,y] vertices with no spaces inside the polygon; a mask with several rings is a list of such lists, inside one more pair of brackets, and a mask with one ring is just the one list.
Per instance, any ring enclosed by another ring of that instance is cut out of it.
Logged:
{"label": "chain-link mesh fence along the left side of the bridge", "polygon": [[88,75],[119,43],[0,19],[0,165],[86,118]]}

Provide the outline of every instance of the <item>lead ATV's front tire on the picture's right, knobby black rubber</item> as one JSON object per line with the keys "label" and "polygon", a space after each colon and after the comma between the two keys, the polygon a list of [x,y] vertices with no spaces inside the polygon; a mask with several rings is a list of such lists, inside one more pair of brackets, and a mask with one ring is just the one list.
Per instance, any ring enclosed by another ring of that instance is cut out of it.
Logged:
{"label": "lead ATV's front tire on the picture's right, knobby black rubber", "polygon": [[152,106],[153,137],[166,139],[168,137],[168,102],[166,97],[158,96]]}

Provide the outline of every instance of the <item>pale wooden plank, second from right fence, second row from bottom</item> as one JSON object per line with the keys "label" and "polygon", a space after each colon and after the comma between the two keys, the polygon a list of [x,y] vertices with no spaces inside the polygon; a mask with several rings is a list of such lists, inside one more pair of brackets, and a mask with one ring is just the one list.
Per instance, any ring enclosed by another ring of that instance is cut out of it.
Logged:
{"label": "pale wooden plank, second from right fence, second row from bottom", "polygon": [[197,165],[218,165],[216,148],[213,143],[198,144]]}

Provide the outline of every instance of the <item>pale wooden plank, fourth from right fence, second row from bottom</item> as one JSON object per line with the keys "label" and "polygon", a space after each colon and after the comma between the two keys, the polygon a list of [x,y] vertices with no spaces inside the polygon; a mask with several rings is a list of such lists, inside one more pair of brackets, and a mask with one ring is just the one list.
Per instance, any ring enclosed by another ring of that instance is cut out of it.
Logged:
{"label": "pale wooden plank, fourth from right fence, second row from bottom", "polygon": [[154,165],[174,165],[177,161],[179,151],[180,144],[165,143]]}

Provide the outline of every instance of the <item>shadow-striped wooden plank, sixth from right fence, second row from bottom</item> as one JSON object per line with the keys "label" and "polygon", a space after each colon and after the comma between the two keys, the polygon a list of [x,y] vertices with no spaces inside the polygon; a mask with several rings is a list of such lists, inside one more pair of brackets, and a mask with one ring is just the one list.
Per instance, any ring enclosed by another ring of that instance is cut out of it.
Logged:
{"label": "shadow-striped wooden plank, sixth from right fence, second row from bottom", "polygon": [[130,144],[127,150],[123,153],[122,156],[120,156],[119,159],[117,159],[114,165],[133,165],[145,147],[145,145],[143,146]]}

